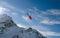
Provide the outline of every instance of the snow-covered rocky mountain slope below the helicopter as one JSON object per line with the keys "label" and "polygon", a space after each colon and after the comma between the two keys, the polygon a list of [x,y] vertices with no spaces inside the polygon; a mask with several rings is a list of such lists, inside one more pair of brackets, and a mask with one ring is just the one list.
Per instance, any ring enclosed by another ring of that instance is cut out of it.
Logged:
{"label": "snow-covered rocky mountain slope below the helicopter", "polygon": [[0,15],[0,38],[45,38],[32,28],[18,27],[6,14]]}

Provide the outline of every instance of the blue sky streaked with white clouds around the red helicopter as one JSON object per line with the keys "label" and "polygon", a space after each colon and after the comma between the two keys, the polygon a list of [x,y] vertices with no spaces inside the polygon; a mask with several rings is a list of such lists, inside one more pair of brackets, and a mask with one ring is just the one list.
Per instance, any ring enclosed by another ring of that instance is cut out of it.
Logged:
{"label": "blue sky streaked with white clouds around the red helicopter", "polygon": [[31,27],[47,38],[60,38],[60,0],[0,0],[0,14],[11,16],[19,27]]}

